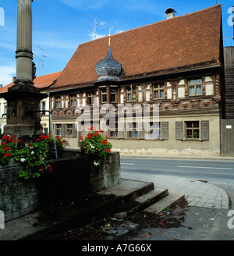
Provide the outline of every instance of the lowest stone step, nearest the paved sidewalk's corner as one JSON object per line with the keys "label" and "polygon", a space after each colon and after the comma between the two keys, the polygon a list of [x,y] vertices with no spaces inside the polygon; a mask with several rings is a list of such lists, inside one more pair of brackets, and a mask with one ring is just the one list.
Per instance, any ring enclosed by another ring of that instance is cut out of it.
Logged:
{"label": "lowest stone step, nearest the paved sidewalk's corner", "polygon": [[167,197],[162,198],[161,201],[158,201],[156,204],[151,204],[151,206],[145,208],[144,211],[159,213],[165,208],[171,208],[183,201],[185,201],[184,194],[169,193]]}

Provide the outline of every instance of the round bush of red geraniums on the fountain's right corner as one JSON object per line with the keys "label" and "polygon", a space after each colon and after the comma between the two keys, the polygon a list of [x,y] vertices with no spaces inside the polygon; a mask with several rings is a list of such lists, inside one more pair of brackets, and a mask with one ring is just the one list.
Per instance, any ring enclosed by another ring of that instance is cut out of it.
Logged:
{"label": "round bush of red geraniums on the fountain's right corner", "polygon": [[85,138],[80,137],[80,148],[83,149],[86,155],[91,155],[94,158],[94,165],[101,165],[101,159],[108,155],[112,149],[112,143],[107,137],[102,137],[103,130],[96,131],[94,127],[89,128],[90,133]]}

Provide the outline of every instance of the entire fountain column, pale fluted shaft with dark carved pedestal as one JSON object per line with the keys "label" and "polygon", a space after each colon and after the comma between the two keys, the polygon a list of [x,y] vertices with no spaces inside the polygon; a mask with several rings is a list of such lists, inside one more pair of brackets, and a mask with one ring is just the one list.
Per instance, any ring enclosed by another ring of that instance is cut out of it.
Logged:
{"label": "entire fountain column, pale fluted shaft with dark carved pedestal", "polygon": [[41,94],[33,82],[32,2],[33,0],[18,0],[16,80],[8,92],[2,94],[7,100],[4,133],[25,140],[42,133],[40,101],[48,97],[47,94]]}

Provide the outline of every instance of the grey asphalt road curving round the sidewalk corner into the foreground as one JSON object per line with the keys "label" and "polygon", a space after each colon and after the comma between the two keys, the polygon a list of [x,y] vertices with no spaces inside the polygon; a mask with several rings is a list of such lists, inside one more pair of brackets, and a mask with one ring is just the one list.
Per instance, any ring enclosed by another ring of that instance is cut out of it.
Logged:
{"label": "grey asphalt road curving round the sidewalk corner into the foreground", "polygon": [[[234,162],[200,161],[159,158],[121,158],[122,172],[149,173],[154,175],[180,176],[192,180],[204,180],[225,190],[232,201],[229,210],[187,207],[180,228],[143,229],[129,240],[234,240],[234,229],[227,223],[234,219],[228,216],[234,210]],[[233,215],[232,215],[233,216]],[[174,215],[178,218],[178,215]],[[233,217],[234,218],[234,217]]]}

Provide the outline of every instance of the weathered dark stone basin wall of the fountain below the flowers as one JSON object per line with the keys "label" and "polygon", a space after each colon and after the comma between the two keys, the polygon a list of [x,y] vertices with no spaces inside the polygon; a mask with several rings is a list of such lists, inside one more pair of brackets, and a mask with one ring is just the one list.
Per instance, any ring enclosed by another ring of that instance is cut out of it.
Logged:
{"label": "weathered dark stone basin wall of the fountain below the flowers", "polygon": [[63,158],[49,162],[52,171],[32,180],[19,178],[22,166],[13,159],[8,165],[0,165],[0,210],[5,221],[120,182],[119,152],[105,157],[100,167],[94,167],[77,151],[66,151]]}

